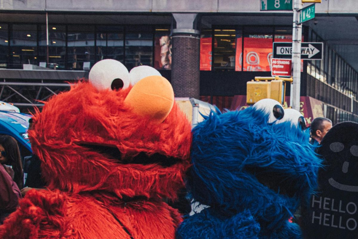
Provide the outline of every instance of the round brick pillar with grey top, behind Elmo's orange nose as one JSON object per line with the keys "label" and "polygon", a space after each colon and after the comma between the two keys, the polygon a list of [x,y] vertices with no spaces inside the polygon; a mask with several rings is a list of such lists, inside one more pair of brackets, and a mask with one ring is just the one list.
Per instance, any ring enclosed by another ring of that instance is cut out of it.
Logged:
{"label": "round brick pillar with grey top, behind Elmo's orange nose", "polygon": [[174,13],[171,44],[171,85],[175,97],[199,99],[200,32],[193,29],[196,13]]}

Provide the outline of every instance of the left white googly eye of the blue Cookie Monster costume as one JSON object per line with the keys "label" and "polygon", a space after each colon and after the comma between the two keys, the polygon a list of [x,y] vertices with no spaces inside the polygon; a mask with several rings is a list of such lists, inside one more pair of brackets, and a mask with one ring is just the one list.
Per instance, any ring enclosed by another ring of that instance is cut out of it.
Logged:
{"label": "left white googly eye of the blue Cookie Monster costume", "polygon": [[279,101],[273,99],[262,99],[257,101],[253,107],[257,110],[262,110],[266,114],[270,114],[269,123],[280,120],[284,117],[284,108]]}

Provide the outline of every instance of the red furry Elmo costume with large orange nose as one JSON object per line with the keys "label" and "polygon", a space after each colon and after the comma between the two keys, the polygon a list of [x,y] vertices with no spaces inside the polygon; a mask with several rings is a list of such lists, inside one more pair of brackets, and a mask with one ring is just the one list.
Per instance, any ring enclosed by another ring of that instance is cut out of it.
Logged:
{"label": "red furry Elmo costume with large orange nose", "polygon": [[164,77],[129,79],[100,61],[34,115],[48,190],[30,190],[0,238],[174,238],[182,218],[164,201],[184,186],[191,125]]}

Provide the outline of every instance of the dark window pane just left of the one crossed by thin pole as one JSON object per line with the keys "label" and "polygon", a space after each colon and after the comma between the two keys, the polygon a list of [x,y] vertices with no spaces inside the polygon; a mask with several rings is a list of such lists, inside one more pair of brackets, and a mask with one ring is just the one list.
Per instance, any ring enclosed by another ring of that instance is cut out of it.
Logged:
{"label": "dark window pane just left of the one crossed by thin pole", "polygon": [[14,24],[10,47],[13,67],[22,68],[22,64],[37,64],[37,25]]}

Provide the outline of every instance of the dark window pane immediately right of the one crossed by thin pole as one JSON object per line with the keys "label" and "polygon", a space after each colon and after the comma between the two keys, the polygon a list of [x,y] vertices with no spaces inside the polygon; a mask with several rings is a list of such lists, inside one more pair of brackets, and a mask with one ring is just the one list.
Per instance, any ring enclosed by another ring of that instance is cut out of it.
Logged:
{"label": "dark window pane immediately right of the one crossed by thin pole", "polygon": [[95,63],[95,29],[69,25],[67,33],[67,68],[83,70],[83,62]]}

